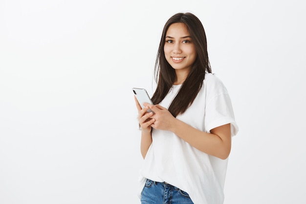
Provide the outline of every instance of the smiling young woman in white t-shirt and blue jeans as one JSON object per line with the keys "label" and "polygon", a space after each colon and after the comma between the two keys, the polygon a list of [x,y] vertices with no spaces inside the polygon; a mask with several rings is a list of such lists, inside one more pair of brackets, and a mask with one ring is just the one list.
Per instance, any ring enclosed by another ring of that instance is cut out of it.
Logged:
{"label": "smiling young woman in white t-shirt and blue jeans", "polygon": [[142,204],[223,203],[238,127],[229,94],[211,72],[202,23],[191,13],[175,14],[164,26],[156,57],[156,105],[142,109],[135,98]]}

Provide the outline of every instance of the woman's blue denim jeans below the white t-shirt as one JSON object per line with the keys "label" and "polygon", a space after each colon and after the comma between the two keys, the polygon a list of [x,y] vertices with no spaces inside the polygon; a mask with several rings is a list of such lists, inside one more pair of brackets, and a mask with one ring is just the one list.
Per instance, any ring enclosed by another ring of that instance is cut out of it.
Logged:
{"label": "woman's blue denim jeans below the white t-shirt", "polygon": [[141,193],[141,204],[193,204],[188,193],[165,182],[147,179]]}

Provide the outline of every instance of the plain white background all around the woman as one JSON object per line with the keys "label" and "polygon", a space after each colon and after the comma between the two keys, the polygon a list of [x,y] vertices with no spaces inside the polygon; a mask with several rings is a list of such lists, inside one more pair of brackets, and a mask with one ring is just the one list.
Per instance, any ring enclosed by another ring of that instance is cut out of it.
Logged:
{"label": "plain white background all around the woman", "polygon": [[164,23],[192,12],[227,87],[224,204],[305,204],[302,0],[0,0],[0,204],[139,204],[132,87],[153,92]]}

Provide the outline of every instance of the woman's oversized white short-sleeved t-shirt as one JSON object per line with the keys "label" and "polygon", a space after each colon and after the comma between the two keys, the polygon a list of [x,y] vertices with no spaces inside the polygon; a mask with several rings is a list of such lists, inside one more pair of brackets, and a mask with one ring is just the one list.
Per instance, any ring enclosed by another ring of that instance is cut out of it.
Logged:
{"label": "woman's oversized white short-sleeved t-shirt", "polygon": [[[174,85],[159,105],[168,108],[180,87]],[[232,136],[238,132],[230,96],[219,78],[211,73],[205,74],[193,104],[176,118],[207,133],[228,123]],[[140,170],[139,197],[146,179],[150,179],[180,188],[194,204],[223,204],[227,159],[201,152],[170,131],[153,129],[152,139]]]}

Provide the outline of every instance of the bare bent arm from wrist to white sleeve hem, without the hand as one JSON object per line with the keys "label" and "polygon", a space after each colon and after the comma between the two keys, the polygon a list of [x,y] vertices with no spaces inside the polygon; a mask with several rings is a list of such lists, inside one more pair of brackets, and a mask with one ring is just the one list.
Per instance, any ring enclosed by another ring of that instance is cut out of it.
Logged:
{"label": "bare bent arm from wrist to white sleeve hem, without the hand", "polygon": [[[218,134],[205,133],[175,118],[170,131],[206,154],[226,159],[231,151],[230,124],[218,127]],[[216,128],[217,129],[217,128]],[[225,130],[225,131],[223,131]],[[223,134],[226,133],[226,134]]]}

